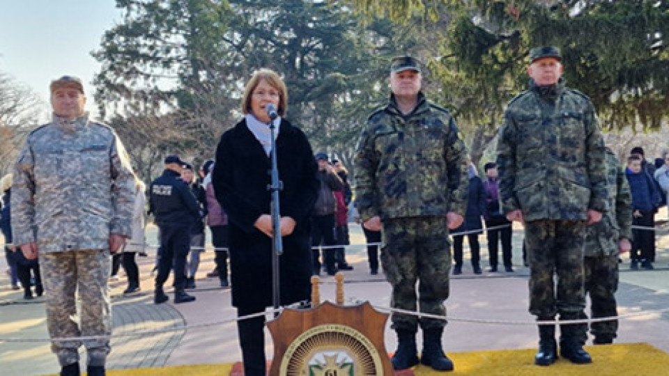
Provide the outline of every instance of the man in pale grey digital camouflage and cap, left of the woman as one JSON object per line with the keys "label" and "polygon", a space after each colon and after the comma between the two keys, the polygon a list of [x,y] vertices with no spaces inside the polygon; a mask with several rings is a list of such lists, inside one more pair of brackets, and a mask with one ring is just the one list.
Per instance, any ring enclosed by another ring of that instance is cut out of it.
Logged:
{"label": "man in pale grey digital camouflage and cap, left of the woman", "polygon": [[104,375],[112,334],[110,253],[132,233],[134,177],[114,131],[84,111],[82,81],[64,76],[50,89],[53,120],[29,134],[15,166],[14,242],[29,260],[39,253],[61,375],[79,375],[82,341],[55,338],[107,336],[83,340],[88,374]]}

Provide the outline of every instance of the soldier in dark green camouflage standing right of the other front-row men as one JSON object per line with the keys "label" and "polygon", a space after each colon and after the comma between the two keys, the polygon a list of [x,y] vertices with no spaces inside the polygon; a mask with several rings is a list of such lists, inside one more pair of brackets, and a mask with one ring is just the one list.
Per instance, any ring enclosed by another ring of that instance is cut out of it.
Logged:
{"label": "soldier in dark green camouflage standing right of the other front-row men", "polygon": [[[590,99],[566,88],[556,47],[530,52],[530,90],[505,112],[497,164],[502,211],[523,221],[530,265],[530,313],[539,320],[583,317],[585,228],[606,211],[604,145]],[[554,276],[557,276],[555,291]],[[583,325],[560,325],[560,354],[590,363]],[[539,327],[535,363],[555,362],[555,326]]]}

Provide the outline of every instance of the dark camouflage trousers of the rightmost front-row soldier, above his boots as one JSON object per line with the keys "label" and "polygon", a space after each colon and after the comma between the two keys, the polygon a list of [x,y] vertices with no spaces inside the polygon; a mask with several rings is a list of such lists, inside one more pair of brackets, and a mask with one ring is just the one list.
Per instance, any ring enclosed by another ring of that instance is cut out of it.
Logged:
{"label": "dark camouflage trousers of the rightmost front-row soldier, above his boots", "polygon": [[[530,265],[530,313],[541,320],[583,317],[585,221],[540,220],[525,223]],[[555,293],[557,276],[557,294]]]}

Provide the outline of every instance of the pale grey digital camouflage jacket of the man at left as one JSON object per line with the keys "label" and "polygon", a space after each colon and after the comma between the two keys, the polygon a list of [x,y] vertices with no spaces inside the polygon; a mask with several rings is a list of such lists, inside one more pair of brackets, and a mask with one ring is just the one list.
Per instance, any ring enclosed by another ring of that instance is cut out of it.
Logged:
{"label": "pale grey digital camouflage jacket of the man at left", "polygon": [[109,234],[132,235],[134,176],[114,131],[54,116],[28,135],[15,165],[15,244],[40,252],[107,249]]}

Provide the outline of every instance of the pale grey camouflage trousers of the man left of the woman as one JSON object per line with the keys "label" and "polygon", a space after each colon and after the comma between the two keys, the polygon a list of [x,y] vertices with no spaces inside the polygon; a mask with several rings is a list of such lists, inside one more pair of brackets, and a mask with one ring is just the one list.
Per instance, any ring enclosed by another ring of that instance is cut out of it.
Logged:
{"label": "pale grey camouflage trousers of the man left of the woman", "polygon": [[[110,336],[112,311],[109,304],[109,250],[79,250],[40,254],[45,288],[47,329],[51,338]],[[79,311],[75,292],[79,295]],[[76,319],[79,318],[79,322]],[[87,364],[104,366],[111,350],[109,338],[53,340],[52,351],[61,366],[79,361],[78,348],[86,347]]]}

